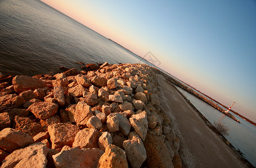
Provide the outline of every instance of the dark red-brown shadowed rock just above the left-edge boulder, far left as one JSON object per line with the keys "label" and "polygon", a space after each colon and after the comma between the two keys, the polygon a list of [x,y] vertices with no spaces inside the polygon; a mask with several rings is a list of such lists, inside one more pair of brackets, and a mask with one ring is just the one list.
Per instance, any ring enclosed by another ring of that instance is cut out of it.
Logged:
{"label": "dark red-brown shadowed rock just above the left-edge boulder, far left", "polygon": [[16,115],[14,118],[15,129],[21,130],[22,132],[35,136],[36,134],[43,132],[41,124],[33,122],[33,120]]}

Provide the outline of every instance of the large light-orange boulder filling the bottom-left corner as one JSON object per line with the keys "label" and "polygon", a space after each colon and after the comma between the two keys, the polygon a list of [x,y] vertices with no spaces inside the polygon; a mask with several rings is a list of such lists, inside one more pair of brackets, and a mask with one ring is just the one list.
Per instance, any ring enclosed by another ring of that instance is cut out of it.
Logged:
{"label": "large light-orange boulder filling the bottom-left corner", "polygon": [[46,167],[48,150],[42,142],[31,144],[8,155],[1,167]]}

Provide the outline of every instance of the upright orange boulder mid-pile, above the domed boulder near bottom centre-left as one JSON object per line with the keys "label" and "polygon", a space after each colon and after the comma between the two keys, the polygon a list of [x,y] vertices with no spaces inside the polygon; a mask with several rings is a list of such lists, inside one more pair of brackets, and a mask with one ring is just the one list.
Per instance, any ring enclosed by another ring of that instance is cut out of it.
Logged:
{"label": "upright orange boulder mid-pile, above the domed boulder near bottom centre-left", "polygon": [[77,125],[86,126],[89,118],[93,116],[91,106],[87,105],[85,102],[79,101],[75,106],[74,120]]}

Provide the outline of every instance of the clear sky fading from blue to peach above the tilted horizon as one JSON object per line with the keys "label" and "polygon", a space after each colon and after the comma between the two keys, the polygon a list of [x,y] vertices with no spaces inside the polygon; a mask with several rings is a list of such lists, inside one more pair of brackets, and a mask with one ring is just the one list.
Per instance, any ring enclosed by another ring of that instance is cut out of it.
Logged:
{"label": "clear sky fading from blue to peach above the tilted horizon", "polygon": [[42,0],[256,122],[256,1]]}

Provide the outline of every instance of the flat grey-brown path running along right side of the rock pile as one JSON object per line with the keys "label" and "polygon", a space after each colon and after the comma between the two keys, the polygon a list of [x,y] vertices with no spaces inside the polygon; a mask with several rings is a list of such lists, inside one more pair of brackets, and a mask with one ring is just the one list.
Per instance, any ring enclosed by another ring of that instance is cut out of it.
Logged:
{"label": "flat grey-brown path running along right side of the rock pile", "polygon": [[204,120],[173,88],[172,83],[158,74],[167,115],[176,123],[174,130],[181,140],[183,167],[247,167],[222,139],[209,129]]}

